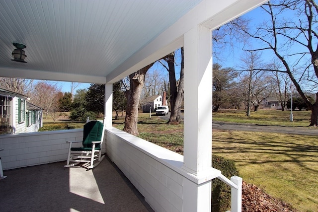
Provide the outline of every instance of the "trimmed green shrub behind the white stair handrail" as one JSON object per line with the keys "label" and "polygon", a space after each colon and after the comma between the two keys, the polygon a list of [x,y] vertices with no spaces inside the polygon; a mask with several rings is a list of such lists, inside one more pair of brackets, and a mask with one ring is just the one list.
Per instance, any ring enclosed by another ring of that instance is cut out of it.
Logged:
{"label": "trimmed green shrub behind the white stair handrail", "polygon": [[[239,176],[234,161],[212,155],[212,167],[221,170],[227,178]],[[212,212],[226,212],[231,208],[231,187],[219,179],[212,180]]]}

